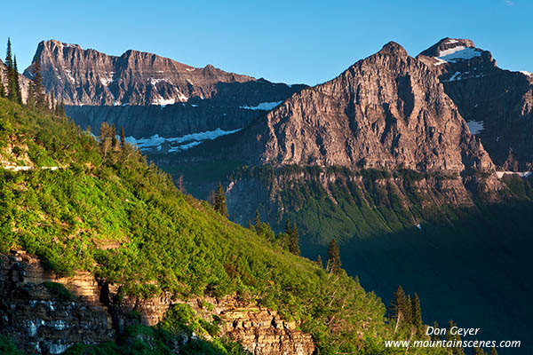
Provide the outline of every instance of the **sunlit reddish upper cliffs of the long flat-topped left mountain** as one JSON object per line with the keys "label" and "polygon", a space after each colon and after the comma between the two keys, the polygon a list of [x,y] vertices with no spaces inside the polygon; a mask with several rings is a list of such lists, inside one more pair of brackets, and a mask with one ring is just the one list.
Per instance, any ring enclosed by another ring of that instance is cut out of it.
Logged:
{"label": "sunlit reddish upper cliffs of the long flat-topped left mountain", "polygon": [[[171,105],[188,99],[210,99],[221,84],[255,81],[248,75],[227,73],[212,66],[191,67],[143,51],[109,56],[57,40],[39,43],[39,59],[46,91],[55,91],[66,105]],[[29,68],[24,73],[31,78]]]}

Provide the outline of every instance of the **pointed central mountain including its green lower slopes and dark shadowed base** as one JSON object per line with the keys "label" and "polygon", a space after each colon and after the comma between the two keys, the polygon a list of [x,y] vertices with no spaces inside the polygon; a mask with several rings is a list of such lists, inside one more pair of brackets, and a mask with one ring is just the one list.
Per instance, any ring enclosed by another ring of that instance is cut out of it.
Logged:
{"label": "pointed central mountain including its green lower slopes and dark shadowed base", "polygon": [[346,271],[387,301],[401,284],[441,324],[526,339],[533,180],[497,173],[439,60],[387,43],[246,129],[154,161],[202,198],[225,182],[243,225],[256,211],[276,230],[295,221],[304,256],[335,238]]}

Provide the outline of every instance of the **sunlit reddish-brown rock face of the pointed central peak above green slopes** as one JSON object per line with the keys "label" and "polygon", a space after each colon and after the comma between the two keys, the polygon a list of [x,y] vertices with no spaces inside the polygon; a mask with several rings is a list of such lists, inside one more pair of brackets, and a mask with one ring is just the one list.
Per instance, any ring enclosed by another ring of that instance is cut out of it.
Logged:
{"label": "sunlit reddish-brown rock face of the pointed central peak above green slopes", "polygon": [[397,43],[293,95],[243,130],[235,146],[259,164],[494,169],[433,68]]}

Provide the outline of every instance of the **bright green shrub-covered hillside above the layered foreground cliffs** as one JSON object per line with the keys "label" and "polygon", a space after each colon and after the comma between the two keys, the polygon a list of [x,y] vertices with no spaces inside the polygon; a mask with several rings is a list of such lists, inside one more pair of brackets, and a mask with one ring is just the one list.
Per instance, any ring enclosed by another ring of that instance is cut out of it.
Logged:
{"label": "bright green shrub-covered hillside above the layered foreground cliffs", "polygon": [[[410,324],[394,333],[380,300],[345,272],[326,272],[229,222],[131,146],[99,145],[68,119],[5,99],[0,108],[1,253],[21,248],[55,272],[89,271],[124,296],[237,295],[301,322],[321,353],[394,352],[383,340],[410,336]],[[4,169],[13,164],[33,169]],[[177,327],[152,332],[169,329]],[[160,345],[145,353],[166,353]]]}

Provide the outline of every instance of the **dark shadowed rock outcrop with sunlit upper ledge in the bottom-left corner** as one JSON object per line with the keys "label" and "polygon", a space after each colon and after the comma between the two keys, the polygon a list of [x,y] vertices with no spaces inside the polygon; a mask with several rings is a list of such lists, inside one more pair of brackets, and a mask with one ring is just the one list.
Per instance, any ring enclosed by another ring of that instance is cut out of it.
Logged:
{"label": "dark shadowed rock outcrop with sunlit upper ledge in the bottom-left corner", "polygon": [[98,295],[89,273],[59,278],[34,256],[0,255],[0,334],[28,353],[57,354],[74,343],[112,340],[115,330]]}

